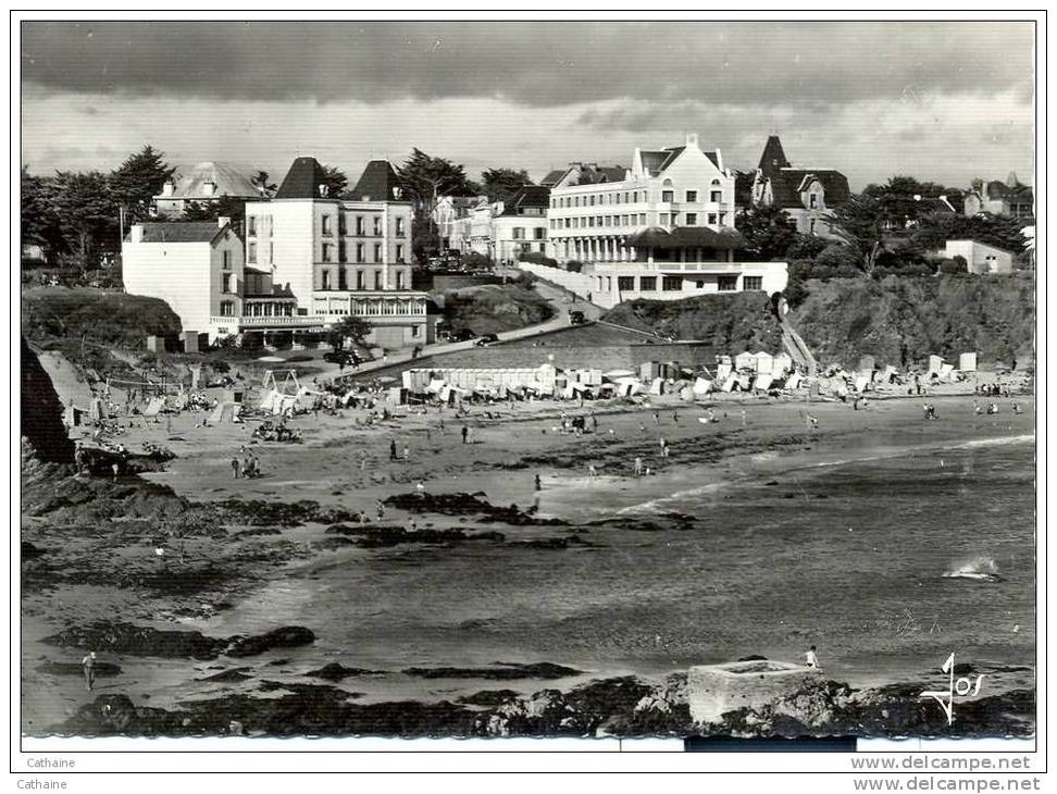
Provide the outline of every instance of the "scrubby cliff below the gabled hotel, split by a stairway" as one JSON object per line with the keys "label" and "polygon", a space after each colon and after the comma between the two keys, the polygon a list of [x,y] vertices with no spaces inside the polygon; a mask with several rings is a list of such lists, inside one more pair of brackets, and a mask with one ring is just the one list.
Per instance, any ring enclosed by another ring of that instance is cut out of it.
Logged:
{"label": "scrubby cliff below the gabled hotel, split by a stairway", "polygon": [[[981,363],[1023,365],[1033,358],[1035,291],[1027,273],[831,278],[807,287],[808,297],[787,320],[820,364],[851,365],[870,355],[880,364],[906,367],[968,351]],[[781,349],[781,325],[762,293],[634,300],[605,319],[710,342],[717,352]]]}

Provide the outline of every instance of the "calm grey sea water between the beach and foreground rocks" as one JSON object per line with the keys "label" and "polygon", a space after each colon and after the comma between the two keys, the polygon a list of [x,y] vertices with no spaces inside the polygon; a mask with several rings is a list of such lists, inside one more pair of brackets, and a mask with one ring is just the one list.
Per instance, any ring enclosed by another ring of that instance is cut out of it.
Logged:
{"label": "calm grey sea water between the beach and foreground rocks", "polygon": [[[853,684],[920,681],[950,653],[974,666],[1030,666],[1033,456],[1030,438],[1003,439],[684,483],[637,507],[626,497],[619,510],[594,505],[596,516],[648,516],[654,529],[592,525],[586,548],[350,548],[269,583],[207,628],[310,626],[312,646],[283,652],[298,675],[329,661],[395,672],[542,660],[656,675],[748,655],[796,661],[811,645],[831,678]],[[691,520],[666,517],[673,511]],[[943,575],[966,566],[998,575]],[[487,688],[397,681],[355,688]]]}

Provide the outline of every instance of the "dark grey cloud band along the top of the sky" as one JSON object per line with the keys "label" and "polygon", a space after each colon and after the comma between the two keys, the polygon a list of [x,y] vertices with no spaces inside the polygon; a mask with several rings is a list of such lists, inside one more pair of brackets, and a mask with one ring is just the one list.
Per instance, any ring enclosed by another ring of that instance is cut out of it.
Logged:
{"label": "dark grey cloud band along the top of the sky", "polygon": [[981,22],[63,22],[24,23],[22,34],[29,89],[530,107],[1030,96],[1034,42],[1030,23]]}

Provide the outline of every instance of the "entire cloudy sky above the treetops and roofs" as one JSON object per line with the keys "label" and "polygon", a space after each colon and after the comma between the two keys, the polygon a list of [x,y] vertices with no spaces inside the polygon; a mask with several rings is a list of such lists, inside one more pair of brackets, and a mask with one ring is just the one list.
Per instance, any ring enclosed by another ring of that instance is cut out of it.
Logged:
{"label": "entire cloudy sky above the treetops and roofs", "polygon": [[23,23],[30,170],[101,169],[150,142],[188,169],[297,154],[356,178],[412,147],[538,178],[627,165],[697,132],[755,168],[853,188],[896,173],[1032,179],[1031,23]]}

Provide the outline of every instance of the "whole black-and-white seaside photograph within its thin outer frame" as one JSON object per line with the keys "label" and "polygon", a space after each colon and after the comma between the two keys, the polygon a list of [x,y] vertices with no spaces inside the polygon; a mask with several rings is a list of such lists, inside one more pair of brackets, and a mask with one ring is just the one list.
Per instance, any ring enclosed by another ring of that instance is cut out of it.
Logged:
{"label": "whole black-and-white seaside photograph within its thin outer frame", "polygon": [[298,16],[12,17],[23,742],[1034,746],[1037,15]]}

